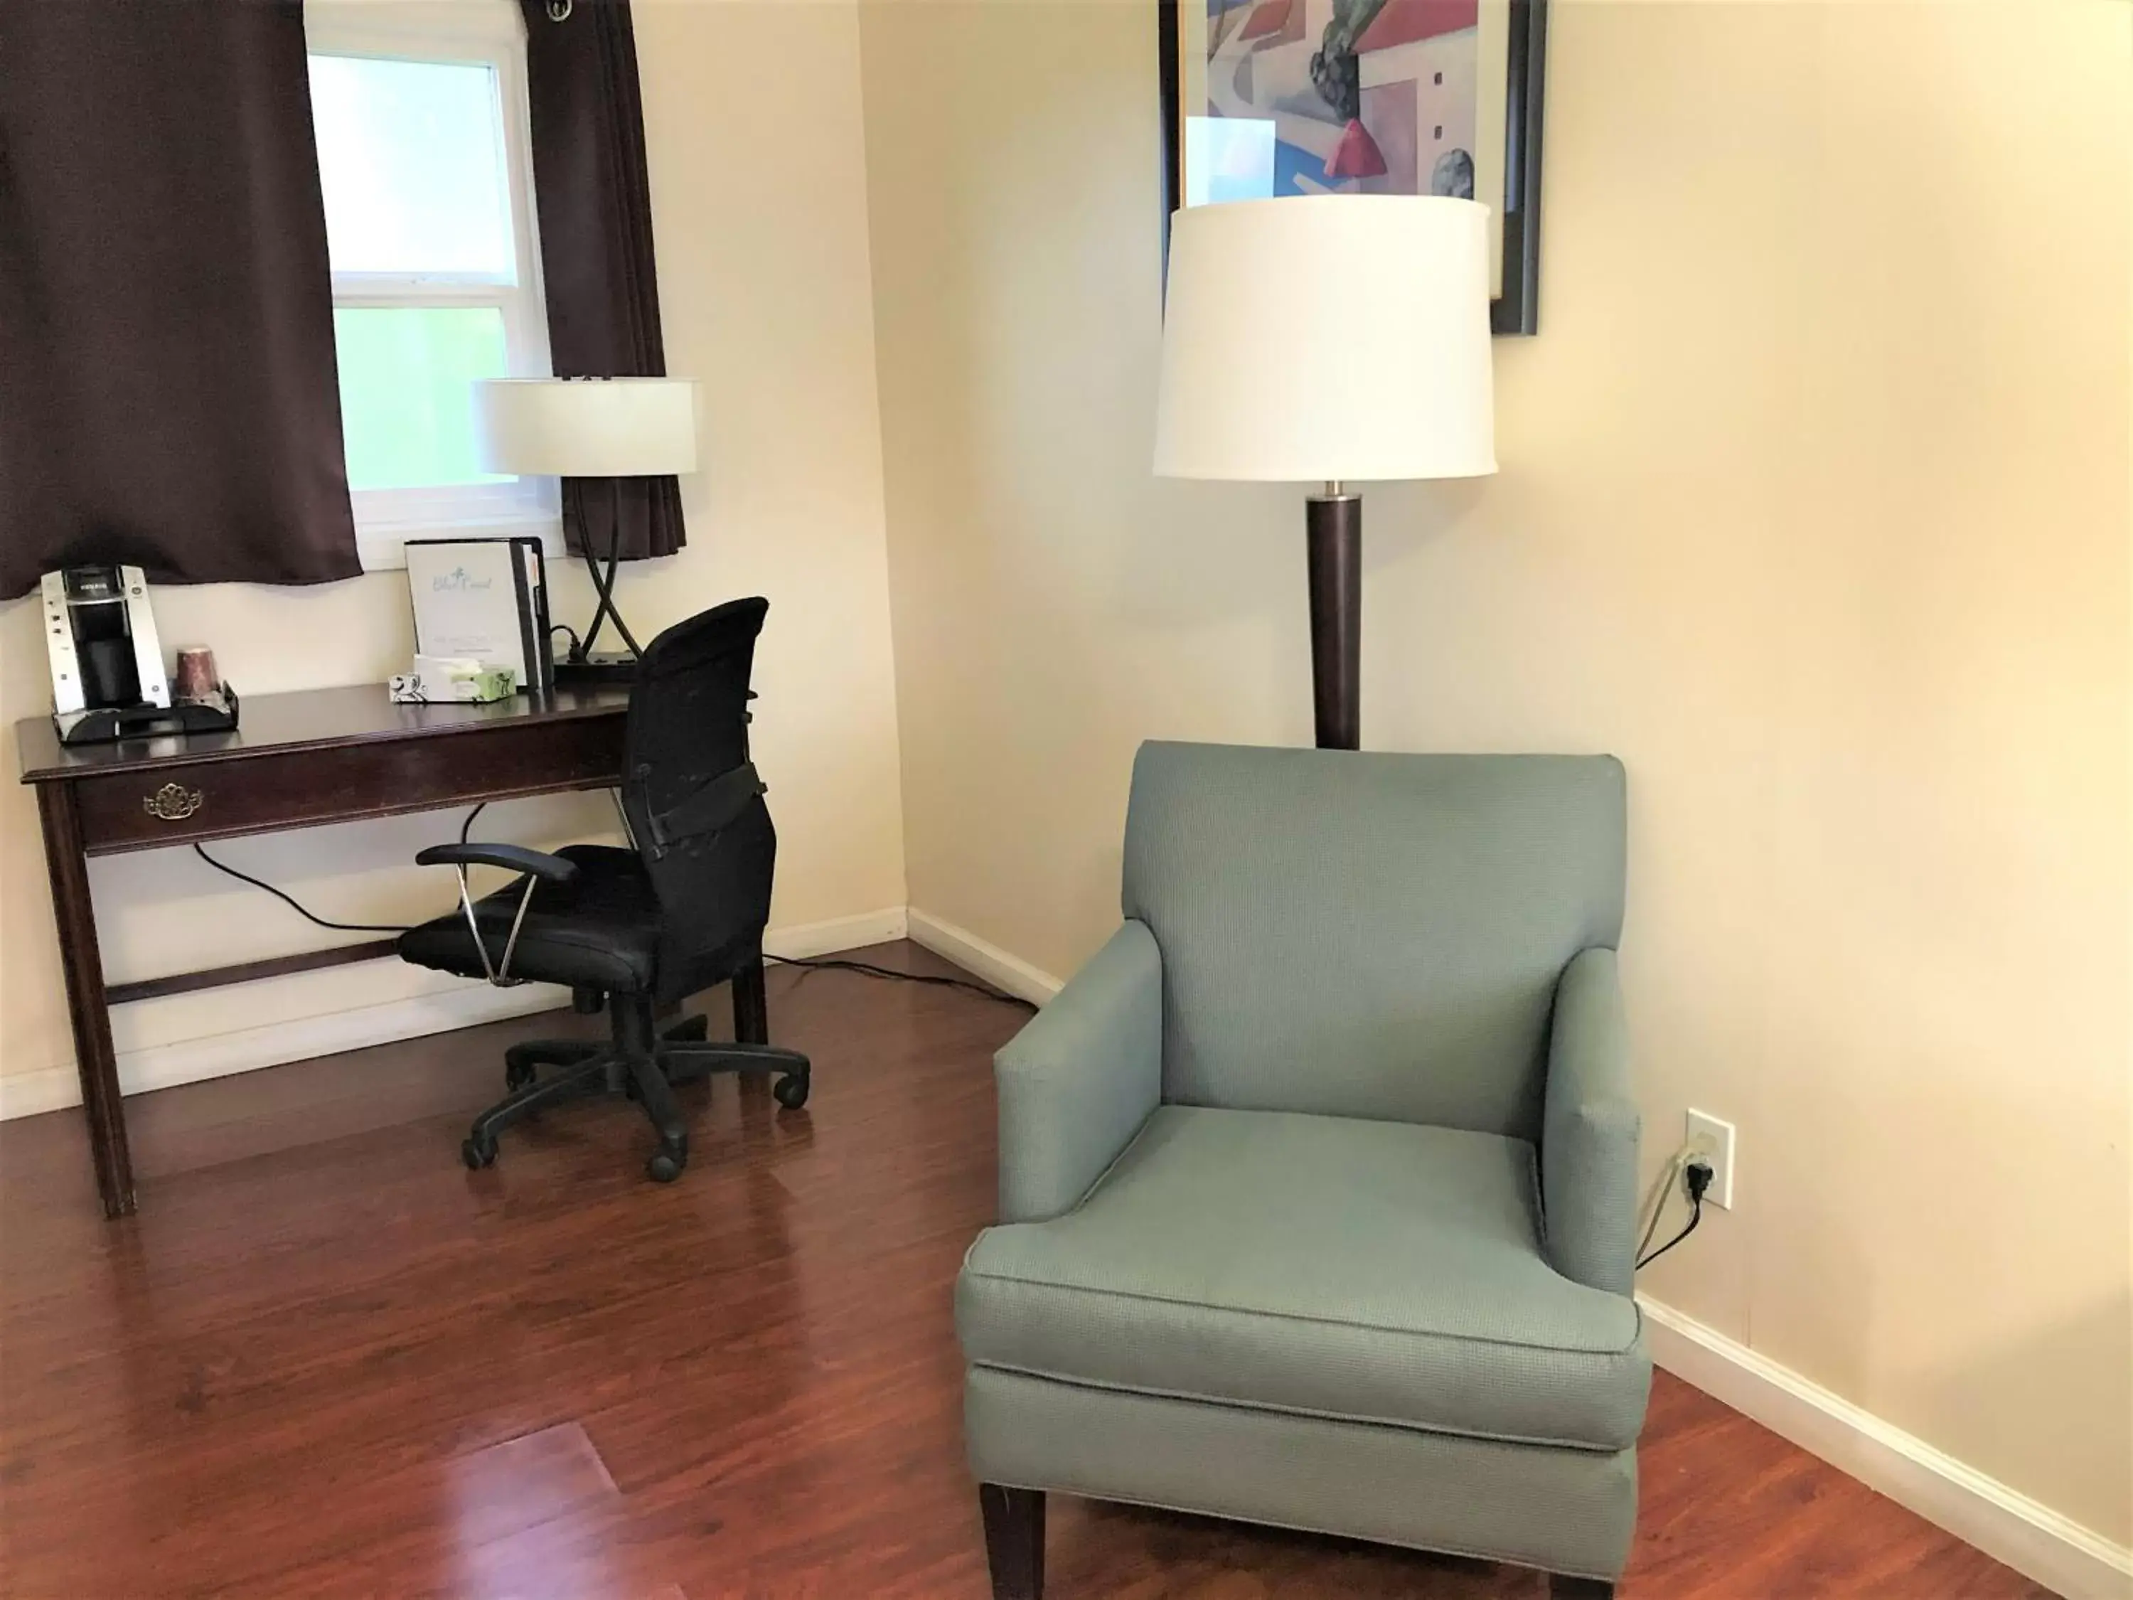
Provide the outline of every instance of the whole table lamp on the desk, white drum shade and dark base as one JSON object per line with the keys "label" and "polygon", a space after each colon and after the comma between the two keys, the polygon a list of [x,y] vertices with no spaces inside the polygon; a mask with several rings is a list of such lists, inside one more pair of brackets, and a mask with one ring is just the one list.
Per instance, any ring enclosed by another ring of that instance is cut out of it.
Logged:
{"label": "whole table lamp on the desk, white drum shade and dark base", "polygon": [[[695,471],[693,378],[493,378],[474,384],[474,439],[482,471],[555,478],[608,478],[614,514],[608,548],[578,529],[578,548],[593,574],[599,606],[584,638],[557,661],[559,685],[629,683],[638,640],[614,604],[621,563],[623,478],[665,478]],[[595,655],[599,627],[614,619],[627,655]]]}

